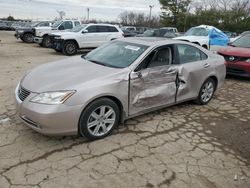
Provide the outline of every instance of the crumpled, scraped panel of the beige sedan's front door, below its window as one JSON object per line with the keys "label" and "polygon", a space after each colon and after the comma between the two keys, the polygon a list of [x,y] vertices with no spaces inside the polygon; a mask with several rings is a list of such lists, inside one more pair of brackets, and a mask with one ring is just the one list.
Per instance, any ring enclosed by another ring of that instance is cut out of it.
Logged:
{"label": "crumpled, scraped panel of the beige sedan's front door, below its window", "polygon": [[129,115],[175,103],[177,70],[146,68],[130,75]]}

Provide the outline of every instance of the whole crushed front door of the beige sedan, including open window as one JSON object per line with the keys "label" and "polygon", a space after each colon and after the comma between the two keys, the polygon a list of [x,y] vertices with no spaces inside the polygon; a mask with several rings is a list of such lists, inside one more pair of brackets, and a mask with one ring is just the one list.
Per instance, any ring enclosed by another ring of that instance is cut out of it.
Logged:
{"label": "whole crushed front door of the beige sedan, including open window", "polygon": [[154,50],[130,74],[130,115],[175,103],[177,71],[171,68],[172,52],[170,46]]}

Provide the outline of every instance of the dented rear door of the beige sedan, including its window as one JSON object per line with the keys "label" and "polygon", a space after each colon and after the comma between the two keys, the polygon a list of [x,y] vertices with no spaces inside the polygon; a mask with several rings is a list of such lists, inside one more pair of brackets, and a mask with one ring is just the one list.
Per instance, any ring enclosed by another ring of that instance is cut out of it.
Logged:
{"label": "dented rear door of the beige sedan, including its window", "polygon": [[213,70],[205,52],[189,44],[176,45],[178,68],[177,102],[196,98]]}

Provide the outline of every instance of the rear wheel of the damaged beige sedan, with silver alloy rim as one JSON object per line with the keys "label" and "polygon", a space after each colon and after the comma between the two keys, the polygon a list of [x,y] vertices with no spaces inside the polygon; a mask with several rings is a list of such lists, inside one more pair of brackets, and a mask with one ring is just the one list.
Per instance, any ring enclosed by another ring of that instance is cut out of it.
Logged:
{"label": "rear wheel of the damaged beige sedan, with silver alloy rim", "polygon": [[216,90],[215,81],[212,78],[208,78],[201,86],[199,96],[195,102],[199,105],[208,104],[214,96]]}

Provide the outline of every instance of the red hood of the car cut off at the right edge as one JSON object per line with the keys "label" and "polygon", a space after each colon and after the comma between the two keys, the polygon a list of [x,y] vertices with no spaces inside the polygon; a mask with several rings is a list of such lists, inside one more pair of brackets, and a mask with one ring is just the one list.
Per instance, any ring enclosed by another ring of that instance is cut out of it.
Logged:
{"label": "red hood of the car cut off at the right edge", "polygon": [[250,48],[227,47],[218,51],[222,55],[250,57]]}

